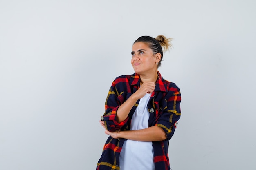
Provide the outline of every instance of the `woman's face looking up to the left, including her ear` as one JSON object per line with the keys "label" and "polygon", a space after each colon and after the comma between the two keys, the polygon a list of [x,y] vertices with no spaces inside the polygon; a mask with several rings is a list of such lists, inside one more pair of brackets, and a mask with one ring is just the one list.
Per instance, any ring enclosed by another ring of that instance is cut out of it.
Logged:
{"label": "woman's face looking up to the left, including her ear", "polygon": [[131,54],[131,64],[135,73],[146,75],[153,74],[157,71],[156,63],[160,60],[144,42],[134,43]]}

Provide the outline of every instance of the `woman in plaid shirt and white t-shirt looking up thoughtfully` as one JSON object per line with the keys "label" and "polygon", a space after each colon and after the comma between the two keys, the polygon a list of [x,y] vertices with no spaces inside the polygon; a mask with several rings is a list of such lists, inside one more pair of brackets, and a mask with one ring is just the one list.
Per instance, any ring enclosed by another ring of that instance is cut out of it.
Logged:
{"label": "woman in plaid shirt and white t-shirt looking up thoughtfully", "polygon": [[100,124],[110,135],[97,170],[169,170],[168,140],[180,118],[180,89],[157,71],[163,35],[139,37],[132,46],[133,75],[117,77],[106,99]]}

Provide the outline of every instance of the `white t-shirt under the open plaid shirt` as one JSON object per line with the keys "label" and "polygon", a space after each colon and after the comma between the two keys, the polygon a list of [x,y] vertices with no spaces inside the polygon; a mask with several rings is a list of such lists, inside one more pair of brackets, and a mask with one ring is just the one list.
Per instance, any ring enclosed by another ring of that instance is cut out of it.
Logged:
{"label": "white t-shirt under the open plaid shirt", "polygon": [[[151,94],[146,94],[132,115],[131,130],[148,128],[147,104]],[[155,170],[152,142],[126,140],[120,153],[120,170]]]}

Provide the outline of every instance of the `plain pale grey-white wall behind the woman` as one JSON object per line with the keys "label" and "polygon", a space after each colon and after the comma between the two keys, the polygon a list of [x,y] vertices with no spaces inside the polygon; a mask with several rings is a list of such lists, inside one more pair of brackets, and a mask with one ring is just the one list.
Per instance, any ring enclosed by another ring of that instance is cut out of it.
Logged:
{"label": "plain pale grey-white wall behind the woman", "polygon": [[173,38],[172,170],[256,168],[255,0],[0,0],[0,170],[94,170],[132,43]]}

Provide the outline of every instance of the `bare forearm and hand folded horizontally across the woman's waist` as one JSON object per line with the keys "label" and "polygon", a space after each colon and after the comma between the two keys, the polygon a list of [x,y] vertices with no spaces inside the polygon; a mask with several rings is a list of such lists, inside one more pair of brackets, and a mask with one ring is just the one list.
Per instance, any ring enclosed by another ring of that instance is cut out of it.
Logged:
{"label": "bare forearm and hand folded horizontally across the woman's waist", "polygon": [[162,141],[165,140],[166,133],[159,126],[151,126],[141,130],[127,130],[110,132],[104,126],[104,122],[100,121],[101,126],[105,128],[105,133],[115,139],[130,139],[134,141]]}

